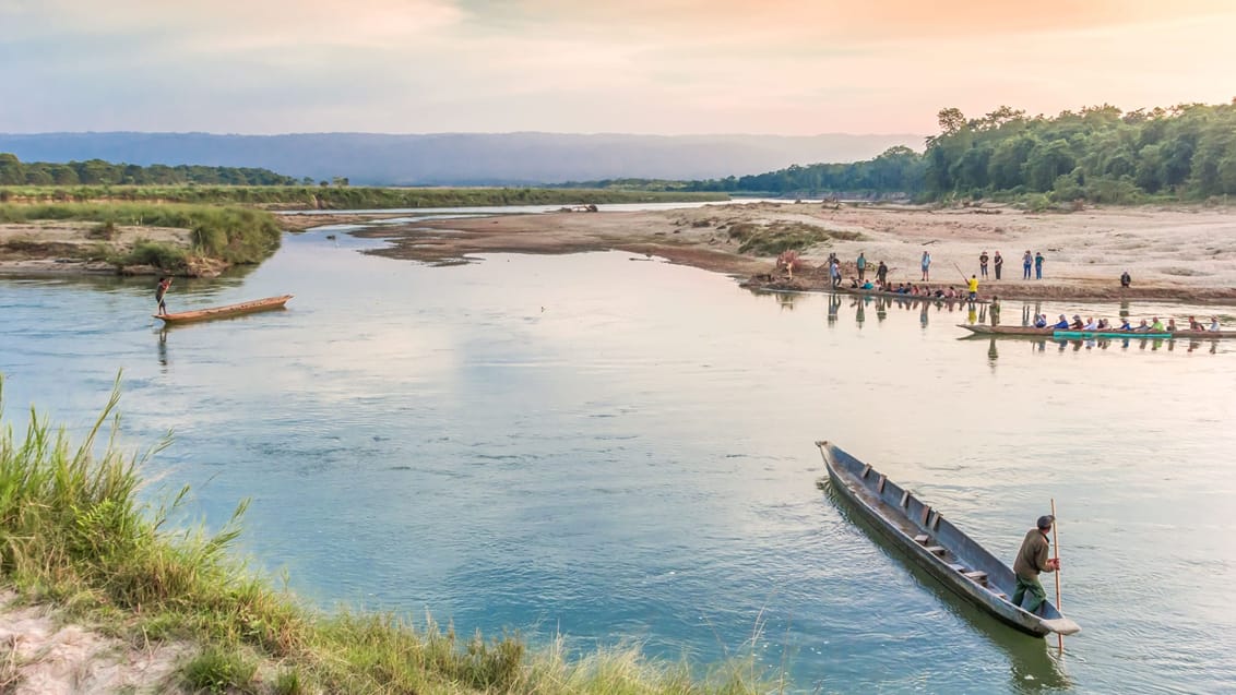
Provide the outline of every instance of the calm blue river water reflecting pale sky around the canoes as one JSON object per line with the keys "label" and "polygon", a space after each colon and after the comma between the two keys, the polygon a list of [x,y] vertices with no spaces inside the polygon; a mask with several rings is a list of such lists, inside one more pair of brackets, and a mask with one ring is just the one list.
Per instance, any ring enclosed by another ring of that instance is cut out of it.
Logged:
{"label": "calm blue river water reflecting pale sky around the canoes", "polygon": [[[801,691],[1232,690],[1236,341],[958,339],[960,309],[619,252],[431,268],[345,231],[169,295],[286,311],[169,331],[148,279],[0,277],[5,420],[80,433],[122,370],[124,446],[174,437],[150,494],[190,484],[211,527],[251,497],[239,552],[328,609],[754,651]],[[817,489],[822,438],[1010,560],[1054,499],[1083,632],[1059,655],[912,570]]]}

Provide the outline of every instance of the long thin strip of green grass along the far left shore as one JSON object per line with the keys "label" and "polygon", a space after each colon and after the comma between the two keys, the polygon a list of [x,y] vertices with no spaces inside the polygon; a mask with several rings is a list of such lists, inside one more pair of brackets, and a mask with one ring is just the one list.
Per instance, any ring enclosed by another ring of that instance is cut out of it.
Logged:
{"label": "long thin strip of green grass along the far left shore", "polygon": [[0,202],[188,202],[246,205],[271,210],[387,210],[496,205],[601,205],[729,200],[716,191],[641,191],[548,188],[378,188],[78,185],[0,186]]}

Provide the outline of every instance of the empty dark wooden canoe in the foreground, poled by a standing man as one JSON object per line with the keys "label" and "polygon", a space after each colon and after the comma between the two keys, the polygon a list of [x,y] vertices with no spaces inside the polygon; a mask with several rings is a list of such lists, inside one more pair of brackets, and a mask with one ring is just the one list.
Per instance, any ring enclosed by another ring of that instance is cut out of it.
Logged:
{"label": "empty dark wooden canoe in the foreground, poled by a standing man", "polygon": [[[880,536],[950,591],[1028,635],[1073,635],[1082,630],[1051,601],[1043,602],[1036,614],[1009,602],[1017,583],[1009,565],[879,470],[829,442],[816,446],[833,490],[865,516]],[[821,480],[821,488],[823,484]]]}

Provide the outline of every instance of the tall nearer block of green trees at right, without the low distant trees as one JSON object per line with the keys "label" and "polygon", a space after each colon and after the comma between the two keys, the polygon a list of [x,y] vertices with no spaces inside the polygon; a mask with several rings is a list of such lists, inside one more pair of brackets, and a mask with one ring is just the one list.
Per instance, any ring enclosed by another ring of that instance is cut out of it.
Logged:
{"label": "tall nearer block of green trees at right, without the low distant trees", "polygon": [[1111,105],[1027,117],[1001,106],[980,119],[939,112],[927,141],[933,199],[1046,194],[1052,200],[1204,200],[1236,193],[1236,100],[1122,112]]}

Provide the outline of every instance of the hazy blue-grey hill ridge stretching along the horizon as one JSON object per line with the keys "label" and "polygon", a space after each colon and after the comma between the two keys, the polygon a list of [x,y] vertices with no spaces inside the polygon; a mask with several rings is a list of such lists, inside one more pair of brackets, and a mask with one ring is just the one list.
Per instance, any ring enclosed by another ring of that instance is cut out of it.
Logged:
{"label": "hazy blue-grey hill ridge stretching along the horizon", "polygon": [[916,135],[810,137],[559,133],[0,133],[0,152],[26,162],[265,168],[289,177],[346,177],[375,185],[523,185],[612,178],[712,179],[791,164],[857,162]]}

